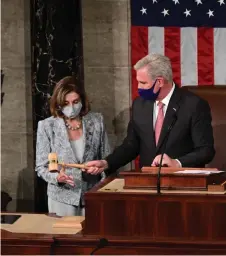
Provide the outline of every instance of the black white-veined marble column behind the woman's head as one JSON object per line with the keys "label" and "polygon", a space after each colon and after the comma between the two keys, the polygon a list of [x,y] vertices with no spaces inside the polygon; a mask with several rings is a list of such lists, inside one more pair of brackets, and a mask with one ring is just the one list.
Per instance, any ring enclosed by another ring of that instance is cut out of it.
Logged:
{"label": "black white-veined marble column behind the woman's head", "polygon": [[75,75],[83,83],[80,1],[33,0],[33,99],[35,129],[50,116],[49,97],[56,83]]}

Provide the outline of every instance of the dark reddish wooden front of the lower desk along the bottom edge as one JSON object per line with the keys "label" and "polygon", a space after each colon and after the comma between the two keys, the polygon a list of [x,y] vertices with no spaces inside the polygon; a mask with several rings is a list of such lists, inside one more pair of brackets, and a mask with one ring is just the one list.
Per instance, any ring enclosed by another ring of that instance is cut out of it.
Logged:
{"label": "dark reddish wooden front of the lower desk along the bottom edge", "polygon": [[[22,234],[1,230],[2,255],[91,255],[99,236]],[[109,237],[95,255],[225,255],[223,241],[153,241],[141,237]]]}

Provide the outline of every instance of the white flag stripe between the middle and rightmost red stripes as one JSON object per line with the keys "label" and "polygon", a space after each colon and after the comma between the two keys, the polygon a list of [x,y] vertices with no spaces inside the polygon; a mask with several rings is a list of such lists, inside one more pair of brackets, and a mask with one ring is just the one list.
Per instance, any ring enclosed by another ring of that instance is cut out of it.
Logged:
{"label": "white flag stripe between the middle and rightmost red stripes", "polygon": [[181,28],[181,86],[197,84],[197,28]]}

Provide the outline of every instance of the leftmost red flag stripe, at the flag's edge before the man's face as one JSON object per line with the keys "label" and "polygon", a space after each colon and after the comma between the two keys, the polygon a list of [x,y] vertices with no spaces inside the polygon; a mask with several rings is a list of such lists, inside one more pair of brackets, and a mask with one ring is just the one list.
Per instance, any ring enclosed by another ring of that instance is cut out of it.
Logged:
{"label": "leftmost red flag stripe, at the flag's edge before the man's face", "polygon": [[131,27],[132,99],[138,96],[136,72],[133,65],[148,54],[148,27]]}

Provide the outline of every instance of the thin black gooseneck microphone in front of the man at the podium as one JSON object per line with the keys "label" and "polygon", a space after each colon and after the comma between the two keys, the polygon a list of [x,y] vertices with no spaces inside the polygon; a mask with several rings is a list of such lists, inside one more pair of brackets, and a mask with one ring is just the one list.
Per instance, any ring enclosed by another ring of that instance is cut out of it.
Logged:
{"label": "thin black gooseneck microphone in front of the man at the podium", "polygon": [[168,126],[167,133],[166,133],[166,135],[165,135],[165,138],[163,139],[162,154],[161,154],[161,158],[160,158],[160,163],[159,163],[159,168],[158,168],[158,175],[157,175],[157,193],[158,193],[158,194],[160,194],[160,189],[161,189],[161,169],[162,169],[163,155],[164,155],[164,152],[165,152],[165,150],[166,150],[166,143],[167,143],[167,141],[168,141],[170,131],[172,130],[174,124],[175,124],[176,121],[177,121],[177,109],[176,109],[176,108],[173,108],[173,110],[174,110],[175,112],[174,112],[174,115],[173,115],[172,122],[171,122],[171,124]]}

